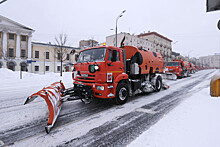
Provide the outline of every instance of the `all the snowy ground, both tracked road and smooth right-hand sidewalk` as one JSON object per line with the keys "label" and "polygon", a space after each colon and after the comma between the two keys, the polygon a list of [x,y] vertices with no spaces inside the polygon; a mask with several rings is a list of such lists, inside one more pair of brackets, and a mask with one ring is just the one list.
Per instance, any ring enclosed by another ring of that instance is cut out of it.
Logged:
{"label": "all the snowy ground, both tracked road and smooth right-hand sidewalk", "polygon": [[216,117],[220,99],[209,96],[210,78],[217,72],[203,70],[167,81],[170,89],[132,97],[123,106],[99,101],[64,103],[53,130],[46,134],[45,102],[39,98],[23,103],[55,81],[63,80],[71,87],[71,73],[62,78],[58,73],[24,73],[19,79],[19,72],[0,69],[4,85],[0,87],[0,146],[220,146],[220,119]]}

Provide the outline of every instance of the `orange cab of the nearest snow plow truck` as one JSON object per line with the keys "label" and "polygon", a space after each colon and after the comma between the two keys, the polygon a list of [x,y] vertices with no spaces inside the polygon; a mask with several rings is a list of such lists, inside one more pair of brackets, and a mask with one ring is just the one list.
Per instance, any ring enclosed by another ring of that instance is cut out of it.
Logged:
{"label": "orange cab of the nearest snow plow truck", "polygon": [[114,98],[117,83],[128,79],[124,56],[123,49],[113,46],[82,50],[74,65],[74,87],[82,97]]}

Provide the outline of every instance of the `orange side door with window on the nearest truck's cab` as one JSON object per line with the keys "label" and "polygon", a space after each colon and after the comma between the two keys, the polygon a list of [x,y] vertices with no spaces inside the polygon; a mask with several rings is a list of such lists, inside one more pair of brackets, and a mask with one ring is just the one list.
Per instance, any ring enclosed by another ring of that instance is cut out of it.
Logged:
{"label": "orange side door with window on the nearest truck's cab", "polygon": [[[107,61],[107,82],[113,82],[116,77],[124,72],[124,62],[122,57],[122,50],[109,49]],[[113,76],[111,80],[110,77]]]}

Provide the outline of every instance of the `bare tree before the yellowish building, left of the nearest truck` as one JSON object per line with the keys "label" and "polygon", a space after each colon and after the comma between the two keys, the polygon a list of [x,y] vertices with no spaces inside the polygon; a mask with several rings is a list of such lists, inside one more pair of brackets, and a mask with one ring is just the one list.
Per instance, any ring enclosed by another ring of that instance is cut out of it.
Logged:
{"label": "bare tree before the yellowish building, left of the nearest truck", "polygon": [[55,57],[58,61],[60,61],[60,76],[63,73],[63,61],[66,60],[67,57],[67,35],[66,34],[59,34],[58,37],[55,37],[56,46],[55,46]]}

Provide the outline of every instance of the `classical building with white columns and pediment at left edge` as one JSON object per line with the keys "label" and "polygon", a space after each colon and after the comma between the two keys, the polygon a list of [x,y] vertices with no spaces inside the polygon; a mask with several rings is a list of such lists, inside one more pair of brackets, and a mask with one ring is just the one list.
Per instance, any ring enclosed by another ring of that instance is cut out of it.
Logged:
{"label": "classical building with white columns and pediment at left edge", "polygon": [[29,71],[33,29],[0,15],[0,68]]}

